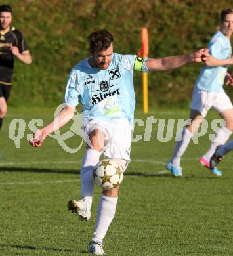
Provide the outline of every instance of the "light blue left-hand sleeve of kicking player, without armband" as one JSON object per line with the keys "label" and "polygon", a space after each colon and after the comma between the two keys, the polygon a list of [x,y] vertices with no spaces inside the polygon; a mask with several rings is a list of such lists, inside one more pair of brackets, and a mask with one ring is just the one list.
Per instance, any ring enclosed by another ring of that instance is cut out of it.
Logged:
{"label": "light blue left-hand sleeve of kicking player, without armband", "polygon": [[79,95],[80,90],[77,83],[77,74],[72,70],[68,76],[63,103],[68,106],[77,106],[79,104]]}

